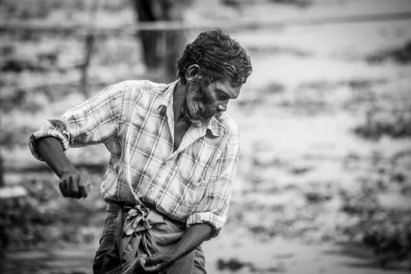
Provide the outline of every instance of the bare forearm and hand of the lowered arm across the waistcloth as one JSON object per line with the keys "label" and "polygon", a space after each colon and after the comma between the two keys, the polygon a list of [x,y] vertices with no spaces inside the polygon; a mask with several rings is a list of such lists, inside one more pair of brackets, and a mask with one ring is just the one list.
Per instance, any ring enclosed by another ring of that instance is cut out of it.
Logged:
{"label": "bare forearm and hand of the lowered arm across the waistcloth", "polygon": [[155,253],[153,256],[140,257],[138,266],[145,273],[158,273],[182,258],[184,255],[196,249],[201,243],[206,240],[213,230],[212,225],[208,223],[201,223],[188,227],[182,238],[177,242],[177,245],[169,252]]}

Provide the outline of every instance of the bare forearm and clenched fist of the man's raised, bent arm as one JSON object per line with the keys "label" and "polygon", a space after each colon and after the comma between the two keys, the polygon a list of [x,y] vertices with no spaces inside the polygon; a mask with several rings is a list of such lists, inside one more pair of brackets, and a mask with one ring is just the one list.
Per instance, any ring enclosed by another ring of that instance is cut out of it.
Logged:
{"label": "bare forearm and clenched fist of the man's raised, bent arm", "polygon": [[38,153],[60,178],[59,188],[64,197],[80,199],[87,197],[88,178],[80,175],[74,164],[63,152],[62,143],[54,137],[36,140]]}

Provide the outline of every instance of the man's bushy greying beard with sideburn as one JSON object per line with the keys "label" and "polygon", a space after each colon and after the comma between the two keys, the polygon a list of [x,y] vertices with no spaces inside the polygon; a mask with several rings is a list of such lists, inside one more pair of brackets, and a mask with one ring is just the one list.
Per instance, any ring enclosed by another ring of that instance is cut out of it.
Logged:
{"label": "man's bushy greying beard with sideburn", "polygon": [[186,119],[199,127],[207,125],[212,117],[218,118],[221,116],[221,112],[208,110],[205,104],[206,101],[206,87],[201,82],[195,90],[187,92],[186,103],[182,109]]}

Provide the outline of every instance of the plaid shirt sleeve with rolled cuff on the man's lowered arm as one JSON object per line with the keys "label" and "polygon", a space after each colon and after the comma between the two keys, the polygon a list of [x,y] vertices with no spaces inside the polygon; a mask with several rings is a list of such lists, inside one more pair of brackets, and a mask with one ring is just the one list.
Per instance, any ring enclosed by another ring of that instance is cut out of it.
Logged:
{"label": "plaid shirt sleeve with rolled cuff on the man's lowered arm", "polygon": [[187,227],[198,223],[210,223],[214,230],[207,240],[218,236],[227,221],[229,199],[240,152],[238,137],[236,136],[234,140],[235,142],[226,145],[208,182],[203,199],[186,221]]}

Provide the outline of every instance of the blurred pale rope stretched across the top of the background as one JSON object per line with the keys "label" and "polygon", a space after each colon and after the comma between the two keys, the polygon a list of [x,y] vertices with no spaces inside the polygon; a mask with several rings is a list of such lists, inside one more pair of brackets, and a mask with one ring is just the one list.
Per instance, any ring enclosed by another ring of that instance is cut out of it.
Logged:
{"label": "blurred pale rope stretched across the top of the background", "polygon": [[[279,20],[245,19],[241,21],[203,21],[200,23],[185,23],[182,21],[156,21],[141,22],[138,25],[104,28],[95,27],[94,36],[119,36],[135,35],[140,31],[176,31],[176,30],[205,30],[213,27],[223,27],[230,31],[236,29],[258,29],[263,27],[286,27],[293,25],[329,25],[339,23],[366,23],[375,21],[403,21],[411,20],[411,11],[380,13],[380,14],[351,14],[341,16],[310,16],[306,18],[293,17]],[[40,23],[3,23],[0,25],[0,32],[46,32],[87,35],[88,30],[84,25],[45,25]]]}

